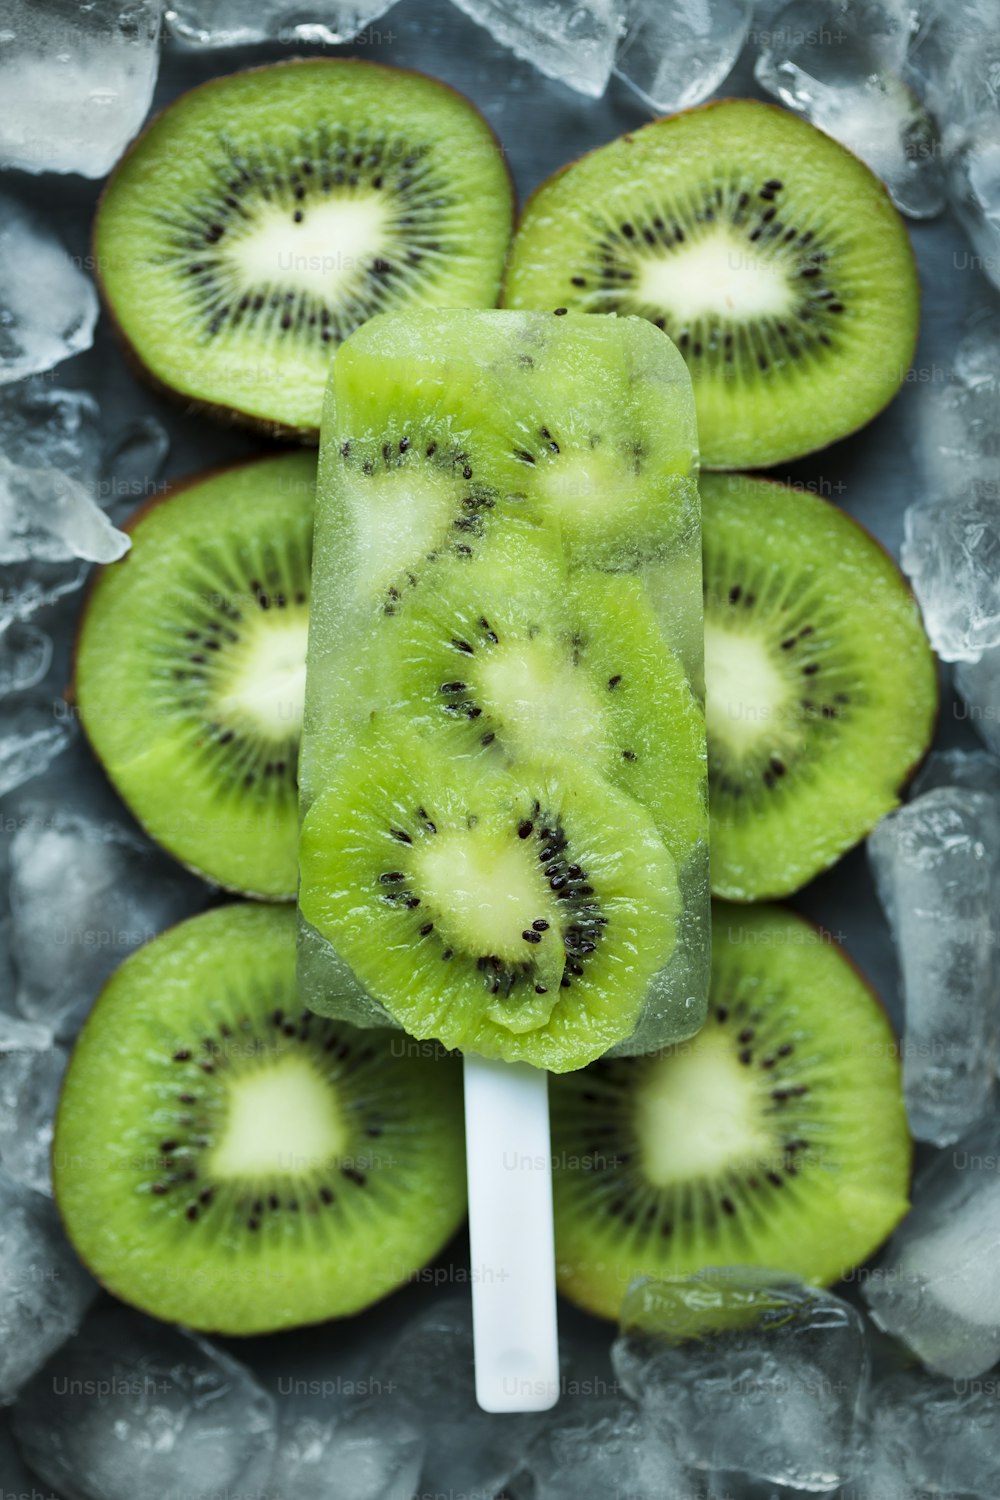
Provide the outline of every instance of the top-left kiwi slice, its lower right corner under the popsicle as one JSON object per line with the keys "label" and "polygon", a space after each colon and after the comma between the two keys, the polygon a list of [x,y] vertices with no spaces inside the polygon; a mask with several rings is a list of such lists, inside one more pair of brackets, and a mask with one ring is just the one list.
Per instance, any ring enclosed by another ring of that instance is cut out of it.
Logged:
{"label": "top-left kiwi slice, its lower right corner under the popsicle", "polygon": [[94,256],[157,384],[315,436],[331,350],[372,314],[493,306],[511,216],[499,142],[466,99],[309,58],[165,110],[108,182]]}

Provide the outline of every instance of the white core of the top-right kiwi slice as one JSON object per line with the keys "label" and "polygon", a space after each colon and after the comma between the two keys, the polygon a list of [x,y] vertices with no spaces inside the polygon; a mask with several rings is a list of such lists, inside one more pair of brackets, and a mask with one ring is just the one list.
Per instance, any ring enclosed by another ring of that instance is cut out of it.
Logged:
{"label": "white core of the top-right kiwi slice", "polygon": [[670,255],[642,261],[637,294],[682,322],[726,315],[735,322],[790,315],[796,296],[783,266],[753,254],[726,225]]}

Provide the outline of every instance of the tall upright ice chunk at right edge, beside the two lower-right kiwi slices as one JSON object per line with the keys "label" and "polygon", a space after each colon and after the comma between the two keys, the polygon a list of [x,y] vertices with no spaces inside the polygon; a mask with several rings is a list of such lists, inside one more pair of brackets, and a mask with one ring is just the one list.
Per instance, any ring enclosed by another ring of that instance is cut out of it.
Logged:
{"label": "tall upright ice chunk at right edge, beside the two lower-right kiwi slices", "polygon": [[939,788],[868,840],[903,976],[903,1092],[918,1140],[948,1146],[994,1101],[1000,1060],[1000,801]]}

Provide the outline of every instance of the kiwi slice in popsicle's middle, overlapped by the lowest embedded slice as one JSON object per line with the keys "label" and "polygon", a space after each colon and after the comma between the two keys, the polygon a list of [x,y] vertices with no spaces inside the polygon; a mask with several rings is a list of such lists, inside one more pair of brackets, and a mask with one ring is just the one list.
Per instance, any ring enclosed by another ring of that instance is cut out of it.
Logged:
{"label": "kiwi slice in popsicle's middle, overlapped by the lowest embedded slice", "polygon": [[381,670],[445,753],[577,760],[649,808],[678,864],[705,838],[702,706],[637,576],[568,573],[552,532],[511,524],[415,594]]}

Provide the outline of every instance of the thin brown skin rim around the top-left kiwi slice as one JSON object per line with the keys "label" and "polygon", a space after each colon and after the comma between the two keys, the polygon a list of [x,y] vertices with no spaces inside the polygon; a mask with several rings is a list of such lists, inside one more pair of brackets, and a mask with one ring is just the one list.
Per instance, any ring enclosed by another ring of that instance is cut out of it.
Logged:
{"label": "thin brown skin rim around the top-left kiwi slice", "polygon": [[[510,170],[510,162],[507,159],[507,152],[504,148],[504,142],[501,141],[499,135],[489,123],[483,111],[478,108],[478,105],[475,105],[466,94],[463,94],[462,90],[453,88],[451,84],[444,82],[441,78],[433,78],[430,74],[423,74],[417,68],[391,68],[388,63],[375,63],[363,57],[288,57],[282,58],[280,63],[261,63],[256,68],[237,68],[231,74],[216,74],[211,78],[205,80],[205,82],[195,84],[193,88],[186,88],[181,94],[178,94],[168,105],[165,105],[157,114],[154,114],[142,126],[142,129],[130,142],[130,146],[118,158],[111,171],[111,176],[108,177],[105,186],[102,188],[100,196],[97,198],[97,208],[94,212],[94,222],[91,228],[91,243],[90,243],[93,278],[97,285],[97,291],[100,294],[100,303],[108,315],[108,321],[114,332],[114,338],[118,344],[118,348],[121,350],[124,363],[138,380],[141,380],[145,386],[148,386],[157,396],[162,396],[165,400],[169,400],[174,406],[180,406],[186,414],[210,417],[213,422],[222,422],[234,428],[244,428],[265,438],[273,438],[282,442],[300,442],[306,447],[315,447],[319,442],[319,428],[297,428],[291,426],[289,423],[276,422],[268,417],[255,417],[253,412],[241,411],[238,406],[226,406],[225,402],[198,400],[196,398],[187,396],[184,392],[177,390],[174,386],[168,386],[165,381],[159,378],[159,375],[156,375],[148,368],[148,364],[144,363],[135,345],[129,339],[127,333],[118,322],[114,306],[108,296],[108,290],[103,284],[103,276],[100,272],[100,256],[97,255],[96,228],[97,228],[97,218],[103,206],[103,200],[118,172],[118,168],[139,148],[139,146],[144,142],[145,136],[153,129],[153,126],[157,124],[163,118],[163,116],[168,114],[177,104],[180,104],[181,99],[187,99],[193,93],[199,93],[202,88],[208,88],[211,84],[216,84],[220,78],[235,78],[240,74],[265,74],[270,72],[271,68],[277,66],[294,68],[300,63],[315,66],[319,62],[327,63],[330,68],[366,68],[366,69],[375,68],[382,74],[406,74],[411,78],[423,78],[427,82],[436,84],[438,88],[442,90],[442,93],[450,93],[456,99],[460,99],[463,104],[466,104],[469,110],[472,110],[483,120],[486,129],[490,134],[490,138],[493,140],[493,144],[496,146],[496,154],[504,164],[504,172],[507,176],[507,189],[510,196],[511,216],[514,214],[517,208],[517,194],[514,188],[514,177]],[[501,286],[502,286],[502,274],[501,274]]]}

